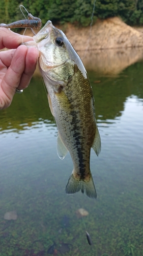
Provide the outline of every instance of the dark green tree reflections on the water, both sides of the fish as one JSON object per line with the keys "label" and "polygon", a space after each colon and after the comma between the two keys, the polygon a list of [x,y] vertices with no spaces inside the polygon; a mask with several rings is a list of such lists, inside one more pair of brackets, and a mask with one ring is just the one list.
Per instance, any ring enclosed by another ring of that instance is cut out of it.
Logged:
{"label": "dark green tree reflections on the water, both sides of the fish", "polygon": [[[110,65],[112,64],[109,63],[108,66]],[[92,69],[93,67],[89,66],[88,74],[95,97],[97,119],[98,116],[102,116],[102,120],[112,120],[121,116],[124,111],[124,102],[131,95],[143,98],[143,62],[137,62],[128,67],[118,77],[104,77],[97,72],[96,67],[94,71]],[[33,123],[39,120],[54,123],[41,77],[34,77],[31,86],[23,94],[15,95],[10,108],[1,111],[0,115],[1,133],[5,130],[19,132],[26,127],[32,128]]]}

